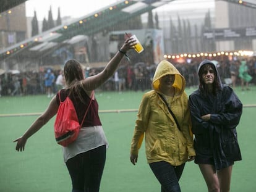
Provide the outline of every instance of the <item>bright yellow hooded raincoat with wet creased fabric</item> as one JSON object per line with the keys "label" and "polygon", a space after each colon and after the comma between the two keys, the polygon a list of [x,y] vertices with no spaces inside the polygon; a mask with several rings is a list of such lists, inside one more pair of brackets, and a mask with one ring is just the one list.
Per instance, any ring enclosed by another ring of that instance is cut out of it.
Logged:
{"label": "bright yellow hooded raincoat with wet creased fabric", "polygon": [[[173,86],[176,90],[171,110],[181,127],[181,131],[160,98],[160,78],[175,75]],[[145,134],[145,148],[148,164],[165,161],[171,165],[181,165],[188,156],[195,156],[193,139],[190,134],[190,113],[188,97],[184,92],[185,79],[168,61],[161,61],[153,77],[153,90],[143,95],[140,103],[130,153],[138,154]]]}

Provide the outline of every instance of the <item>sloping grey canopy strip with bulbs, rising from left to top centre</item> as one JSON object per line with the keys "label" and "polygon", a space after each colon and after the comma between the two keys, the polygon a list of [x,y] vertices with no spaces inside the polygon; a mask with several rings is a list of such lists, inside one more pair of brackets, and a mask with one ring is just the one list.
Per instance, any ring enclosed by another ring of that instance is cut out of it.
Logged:
{"label": "sloping grey canopy strip with bulbs, rising from left to top centre", "polygon": [[[92,35],[93,33],[102,31],[111,25],[117,24],[121,19],[130,19],[137,14],[143,14],[148,10],[167,4],[169,1],[173,0],[157,1],[152,4],[151,1],[150,4],[147,4],[147,1],[143,1],[143,3],[132,0],[121,1],[117,4],[98,10],[93,14],[85,15],[79,19],[73,20],[72,22],[52,28],[40,35],[33,36],[28,40],[14,44],[7,49],[3,49],[0,51],[0,60],[11,57],[26,48],[30,48],[33,45],[46,41],[62,43],[62,41],[72,38],[74,35]],[[109,14],[110,12],[111,14]],[[11,14],[11,11],[9,14]]]}

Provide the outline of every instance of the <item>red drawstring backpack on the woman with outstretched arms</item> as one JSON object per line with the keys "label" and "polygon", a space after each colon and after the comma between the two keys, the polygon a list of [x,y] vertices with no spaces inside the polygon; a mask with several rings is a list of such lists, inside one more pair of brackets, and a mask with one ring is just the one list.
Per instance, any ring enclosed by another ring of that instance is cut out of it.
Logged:
{"label": "red drawstring backpack on the woman with outstretched arms", "polygon": [[71,101],[69,96],[67,96],[64,101],[61,101],[60,92],[61,91],[59,91],[58,93],[59,109],[54,122],[54,134],[56,142],[66,147],[77,139],[77,136],[79,135],[79,130],[83,125],[83,121],[85,120],[85,116],[87,115],[88,109],[92,102],[93,93],[90,98],[90,103],[87,107],[87,110],[85,111],[85,115],[83,116],[82,123],[80,125],[73,102]]}

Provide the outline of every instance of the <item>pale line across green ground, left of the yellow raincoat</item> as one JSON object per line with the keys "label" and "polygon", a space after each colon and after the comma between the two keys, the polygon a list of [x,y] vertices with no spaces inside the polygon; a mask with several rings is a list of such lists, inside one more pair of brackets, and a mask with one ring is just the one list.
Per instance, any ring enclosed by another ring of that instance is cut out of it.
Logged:
{"label": "pale line across green ground, left of the yellow raincoat", "polygon": [[[99,113],[119,113],[119,112],[137,112],[137,111],[138,111],[138,109],[113,109],[113,110],[109,109],[109,110],[99,110]],[[38,116],[41,114],[43,114],[43,112],[20,113],[20,114],[0,114],[0,117]]]}

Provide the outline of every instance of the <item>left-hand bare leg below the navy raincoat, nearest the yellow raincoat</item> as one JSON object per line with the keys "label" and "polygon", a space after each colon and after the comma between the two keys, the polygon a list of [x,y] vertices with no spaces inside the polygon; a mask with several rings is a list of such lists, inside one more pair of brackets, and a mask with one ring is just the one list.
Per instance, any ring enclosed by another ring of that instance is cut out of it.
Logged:
{"label": "left-hand bare leg below the navy raincoat, nearest the yellow raincoat", "polygon": [[209,192],[220,192],[218,176],[213,165],[199,164]]}

